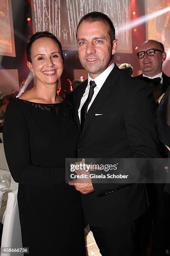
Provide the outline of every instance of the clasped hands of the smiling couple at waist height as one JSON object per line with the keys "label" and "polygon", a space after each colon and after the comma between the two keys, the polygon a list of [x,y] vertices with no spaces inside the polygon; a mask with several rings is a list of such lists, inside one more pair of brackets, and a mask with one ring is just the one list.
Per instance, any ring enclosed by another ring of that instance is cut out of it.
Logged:
{"label": "clasped hands of the smiling couple at waist height", "polygon": [[[82,159],[80,162],[76,162],[75,164],[84,164],[85,159]],[[89,194],[94,191],[91,178],[90,178],[90,172],[87,172],[87,169],[78,169],[75,170],[77,175],[84,174],[85,178],[77,178],[73,180],[72,182],[68,182],[70,186],[74,186],[77,191],[80,191],[82,194]]]}

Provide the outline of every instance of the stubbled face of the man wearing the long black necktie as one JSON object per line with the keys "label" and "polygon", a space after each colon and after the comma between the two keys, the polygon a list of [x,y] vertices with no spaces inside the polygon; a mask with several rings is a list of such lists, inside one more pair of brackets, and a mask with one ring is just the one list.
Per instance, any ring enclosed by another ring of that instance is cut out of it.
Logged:
{"label": "stubbled face of the man wearing the long black necktie", "polygon": [[117,40],[111,45],[105,22],[82,21],[77,30],[77,47],[82,67],[94,79],[109,66],[117,49]]}

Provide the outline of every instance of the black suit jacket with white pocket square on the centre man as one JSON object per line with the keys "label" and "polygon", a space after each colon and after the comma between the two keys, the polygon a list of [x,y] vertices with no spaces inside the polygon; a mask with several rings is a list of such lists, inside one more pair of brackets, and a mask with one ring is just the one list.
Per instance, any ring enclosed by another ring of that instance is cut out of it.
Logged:
{"label": "black suit jacket with white pocket square on the centre man", "polygon": [[[74,93],[75,119],[87,80]],[[102,115],[95,115],[102,114]],[[159,158],[156,106],[144,81],[133,79],[116,65],[90,106],[77,145],[78,158]],[[144,184],[96,184],[81,194],[87,223],[116,226],[129,223],[147,207]]]}

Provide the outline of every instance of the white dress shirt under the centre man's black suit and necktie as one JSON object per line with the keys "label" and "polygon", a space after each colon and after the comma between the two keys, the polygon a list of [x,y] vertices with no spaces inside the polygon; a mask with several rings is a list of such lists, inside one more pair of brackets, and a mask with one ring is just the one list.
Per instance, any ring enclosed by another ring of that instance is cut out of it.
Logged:
{"label": "white dress shirt under the centre man's black suit and necktie", "polygon": [[105,80],[107,79],[108,75],[110,74],[110,72],[112,71],[112,69],[115,67],[115,63],[112,63],[109,67],[107,67],[107,69],[105,69],[105,71],[103,71],[99,76],[97,76],[95,79],[92,79],[90,77],[90,75],[88,74],[88,83],[87,83],[87,87],[85,88],[85,93],[83,94],[82,98],[81,98],[81,102],[80,102],[80,107],[78,109],[78,116],[80,119],[80,112],[81,112],[81,108],[82,105],[85,103],[85,101],[87,100],[88,94],[89,94],[89,90],[90,90],[90,81],[95,81],[96,87],[94,88],[94,94],[92,95],[92,99],[88,105],[87,108],[87,112],[90,108],[90,106],[92,105],[92,102],[95,100],[95,97],[97,96],[97,93],[100,91],[100,89],[102,88],[102,85],[104,84]]}

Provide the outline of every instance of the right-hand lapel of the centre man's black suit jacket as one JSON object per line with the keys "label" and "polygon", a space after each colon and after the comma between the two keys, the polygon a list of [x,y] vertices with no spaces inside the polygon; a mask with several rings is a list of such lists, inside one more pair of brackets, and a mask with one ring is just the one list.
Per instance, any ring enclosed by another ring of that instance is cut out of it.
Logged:
{"label": "right-hand lapel of the centre man's black suit jacket", "polygon": [[85,131],[87,130],[87,127],[90,124],[95,113],[100,108],[102,103],[106,100],[107,96],[112,92],[112,89],[113,89],[120,73],[121,73],[121,70],[115,64],[115,67],[112,69],[109,76],[105,80],[104,84],[102,85],[102,88],[98,92],[97,96],[95,97],[95,100],[92,102],[92,105],[90,106],[90,108],[87,112],[87,115],[85,118],[85,123],[82,128],[82,133],[80,135],[80,140],[82,139],[83,135],[85,134]]}

